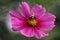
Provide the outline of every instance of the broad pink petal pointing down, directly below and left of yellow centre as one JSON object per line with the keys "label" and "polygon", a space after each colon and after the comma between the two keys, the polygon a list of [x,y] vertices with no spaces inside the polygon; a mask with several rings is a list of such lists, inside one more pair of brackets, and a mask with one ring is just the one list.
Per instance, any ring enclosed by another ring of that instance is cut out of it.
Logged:
{"label": "broad pink petal pointing down, directly below and left of yellow centre", "polygon": [[34,36],[33,31],[34,31],[33,28],[27,26],[24,29],[20,30],[20,33],[26,37],[33,37]]}

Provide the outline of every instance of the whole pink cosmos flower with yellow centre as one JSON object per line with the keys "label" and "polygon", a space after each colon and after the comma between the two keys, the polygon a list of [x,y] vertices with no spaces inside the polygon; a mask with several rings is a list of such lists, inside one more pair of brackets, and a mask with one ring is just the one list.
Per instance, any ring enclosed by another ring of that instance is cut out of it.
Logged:
{"label": "whole pink cosmos flower with yellow centre", "polygon": [[[20,13],[10,10],[10,22],[13,31],[19,31],[26,37],[42,38],[48,36],[46,31],[54,28],[56,16],[47,13],[42,5],[35,4],[30,11],[26,2],[19,4]],[[23,14],[23,15],[21,15]]]}

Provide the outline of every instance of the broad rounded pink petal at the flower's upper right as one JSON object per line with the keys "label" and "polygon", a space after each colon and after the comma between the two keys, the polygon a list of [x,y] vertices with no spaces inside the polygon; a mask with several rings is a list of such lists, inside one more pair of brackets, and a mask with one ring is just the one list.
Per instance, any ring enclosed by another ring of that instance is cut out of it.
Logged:
{"label": "broad rounded pink petal at the flower's upper right", "polygon": [[37,18],[42,17],[45,14],[46,10],[42,5],[35,4],[32,8],[32,13],[35,15]]}

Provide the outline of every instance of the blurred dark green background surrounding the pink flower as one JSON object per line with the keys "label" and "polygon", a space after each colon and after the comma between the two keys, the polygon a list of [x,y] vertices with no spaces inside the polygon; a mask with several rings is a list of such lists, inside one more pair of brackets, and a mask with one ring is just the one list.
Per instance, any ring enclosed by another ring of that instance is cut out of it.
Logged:
{"label": "blurred dark green background surrounding the pink flower", "polygon": [[[56,26],[52,31],[49,31],[49,36],[41,38],[40,40],[60,40],[60,0],[0,0],[0,40],[27,40],[28,38],[13,33],[7,28],[6,16],[10,9],[18,10],[18,4],[22,1],[29,3],[30,7],[34,4],[43,5],[47,12],[56,15]],[[37,40],[31,38],[31,40]]]}

